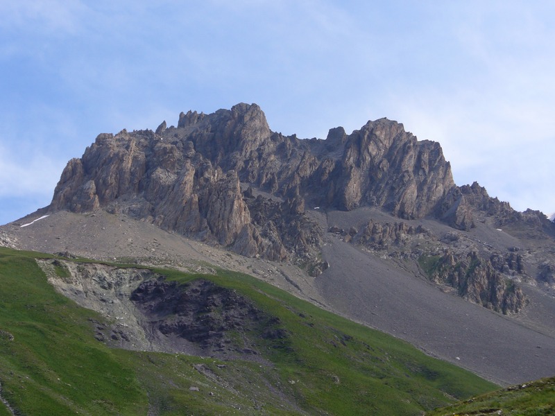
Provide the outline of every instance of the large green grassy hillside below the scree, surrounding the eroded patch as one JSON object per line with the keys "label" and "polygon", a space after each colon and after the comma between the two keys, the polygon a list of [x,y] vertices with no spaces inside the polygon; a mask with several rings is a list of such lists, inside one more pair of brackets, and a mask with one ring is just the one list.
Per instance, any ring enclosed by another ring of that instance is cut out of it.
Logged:
{"label": "large green grassy hillside below the scree, surrounding the eroded patch", "polygon": [[[49,257],[0,248],[0,415],[420,415],[497,388],[227,270],[153,270],[164,279],[133,296],[151,316],[164,315],[160,328],[175,345],[219,337],[210,347],[229,358],[108,347],[97,329],[113,319],[57,293],[36,262]],[[69,279],[56,264],[58,277]],[[240,304],[241,313],[208,302],[183,327],[195,293],[208,300],[223,293],[219,299]]]}

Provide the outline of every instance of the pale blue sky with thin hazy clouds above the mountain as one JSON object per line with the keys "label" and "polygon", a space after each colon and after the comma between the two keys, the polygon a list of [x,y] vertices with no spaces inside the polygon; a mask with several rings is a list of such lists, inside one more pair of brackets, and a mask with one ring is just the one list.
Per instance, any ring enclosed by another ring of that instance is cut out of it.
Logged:
{"label": "pale blue sky with thin hazy clouds above the mountain", "polygon": [[1,0],[0,224],[99,133],[240,102],[303,138],[386,116],[555,211],[555,1]]}

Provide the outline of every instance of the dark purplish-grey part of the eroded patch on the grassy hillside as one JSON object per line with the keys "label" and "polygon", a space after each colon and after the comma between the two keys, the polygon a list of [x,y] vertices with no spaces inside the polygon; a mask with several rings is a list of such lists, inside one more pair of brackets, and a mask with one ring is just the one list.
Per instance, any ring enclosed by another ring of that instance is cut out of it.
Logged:
{"label": "dark purplish-grey part of the eroded patch on the grassy hillside", "polygon": [[237,291],[205,279],[185,285],[151,279],[140,284],[130,299],[144,315],[146,332],[176,351],[258,361],[261,342],[287,337],[279,318]]}

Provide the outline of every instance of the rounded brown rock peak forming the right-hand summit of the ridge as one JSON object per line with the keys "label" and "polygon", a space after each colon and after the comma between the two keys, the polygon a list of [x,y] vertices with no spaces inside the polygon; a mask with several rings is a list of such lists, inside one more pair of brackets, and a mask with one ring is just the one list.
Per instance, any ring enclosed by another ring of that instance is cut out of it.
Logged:
{"label": "rounded brown rock peak forming the right-hand summit of the ridge", "polygon": [[417,141],[387,119],[369,121],[345,139],[340,177],[339,207],[375,205],[407,219],[434,212],[454,187],[439,144]]}

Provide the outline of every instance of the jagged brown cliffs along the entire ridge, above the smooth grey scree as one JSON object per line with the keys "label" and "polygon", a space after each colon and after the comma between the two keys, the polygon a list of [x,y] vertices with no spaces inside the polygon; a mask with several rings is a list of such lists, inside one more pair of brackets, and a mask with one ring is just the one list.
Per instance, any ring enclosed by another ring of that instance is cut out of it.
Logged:
{"label": "jagged brown cliffs along the entire ridge, above the smooth grey scree", "polygon": [[[554,231],[543,214],[517,213],[477,183],[457,187],[441,146],[418,141],[400,123],[379,119],[350,135],[339,127],[325,140],[300,140],[272,132],[255,104],[181,113],[177,127],[164,121],[155,132],[99,135],[83,157],[69,161],[49,209],[128,214],[247,257],[290,260],[318,275],[327,267],[321,260],[327,230],[308,207],[377,207],[463,231],[477,221]],[[346,239],[371,250],[395,246],[413,259],[429,254],[419,241],[441,243],[441,236],[403,223],[368,223]],[[504,310],[502,302],[491,307]]]}

